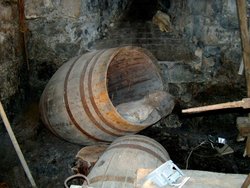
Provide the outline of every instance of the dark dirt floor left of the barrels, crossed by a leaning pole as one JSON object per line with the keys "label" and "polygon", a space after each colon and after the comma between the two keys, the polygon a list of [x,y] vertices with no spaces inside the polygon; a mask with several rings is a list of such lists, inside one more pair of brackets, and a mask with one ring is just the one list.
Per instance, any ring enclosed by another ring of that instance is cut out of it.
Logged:
{"label": "dark dirt floor left of the barrels, crossed by a leaning pole", "polygon": [[[71,166],[82,146],[57,138],[39,119],[37,103],[30,104],[13,123],[17,140],[38,187],[63,187],[72,175]],[[10,187],[28,187],[29,182],[6,132],[0,135],[0,180]]]}

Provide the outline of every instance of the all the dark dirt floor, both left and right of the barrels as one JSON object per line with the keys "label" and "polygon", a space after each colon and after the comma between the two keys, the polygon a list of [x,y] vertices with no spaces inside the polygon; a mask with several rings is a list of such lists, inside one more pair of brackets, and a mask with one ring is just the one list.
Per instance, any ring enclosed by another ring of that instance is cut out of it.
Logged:
{"label": "all the dark dirt floor, both left and right of the barrels", "polygon": [[[39,119],[37,104],[28,105],[16,117],[12,127],[38,187],[62,187],[64,180],[72,175],[75,155],[82,146],[68,143],[48,131]],[[250,172],[250,159],[242,156],[244,142],[235,141],[235,119],[238,116],[242,116],[241,111],[185,117],[177,112],[140,134],[159,141],[182,169],[186,168],[188,161],[188,169],[247,174]],[[167,124],[176,126],[169,128]],[[208,142],[208,135],[226,138],[234,153],[218,155]],[[6,131],[0,134],[0,140],[0,182],[6,182],[9,187],[29,187]]]}

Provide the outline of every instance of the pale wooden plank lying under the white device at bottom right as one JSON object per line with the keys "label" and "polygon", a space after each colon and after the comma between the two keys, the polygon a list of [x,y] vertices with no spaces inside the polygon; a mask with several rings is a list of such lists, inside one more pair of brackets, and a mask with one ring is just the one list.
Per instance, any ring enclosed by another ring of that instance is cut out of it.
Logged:
{"label": "pale wooden plank lying under the white device at bottom right", "polygon": [[[154,184],[142,185],[143,178],[148,175],[152,169],[138,169],[135,188],[158,188]],[[243,174],[224,174],[217,172],[199,171],[199,170],[183,170],[184,174],[190,179],[183,187],[186,188],[228,188],[241,187],[247,175]],[[173,186],[164,186],[163,188],[172,188]]]}

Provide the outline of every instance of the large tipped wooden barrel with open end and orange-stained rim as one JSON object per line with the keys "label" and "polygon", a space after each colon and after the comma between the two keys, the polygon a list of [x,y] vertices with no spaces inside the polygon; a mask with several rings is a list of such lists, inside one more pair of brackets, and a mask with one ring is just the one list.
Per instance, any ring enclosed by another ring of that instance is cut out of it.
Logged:
{"label": "large tipped wooden barrel with open end and orange-stained rim", "polygon": [[115,106],[163,90],[155,63],[138,47],[98,50],[71,59],[41,96],[42,121],[55,135],[83,145],[139,132],[156,120],[133,124]]}

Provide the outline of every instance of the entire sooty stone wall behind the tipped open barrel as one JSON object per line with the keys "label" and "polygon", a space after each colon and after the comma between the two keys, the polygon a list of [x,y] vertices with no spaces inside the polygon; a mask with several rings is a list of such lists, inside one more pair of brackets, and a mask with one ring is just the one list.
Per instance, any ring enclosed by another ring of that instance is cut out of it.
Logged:
{"label": "entire sooty stone wall behind the tipped open barrel", "polygon": [[[234,0],[171,0],[170,5],[167,1],[164,10],[171,17],[172,33],[161,32],[148,19],[133,20],[133,24],[122,22],[120,18],[127,10],[137,10],[130,7],[131,2],[26,0],[30,63],[29,83],[26,83],[20,81],[26,76],[21,70],[25,66],[18,47],[16,1],[2,0],[1,98],[9,102],[11,97],[19,95],[24,88],[21,83],[30,85],[33,93],[40,96],[53,73],[71,57],[94,48],[123,45],[149,49],[161,61],[171,92],[185,105],[201,102],[200,95],[207,92],[213,98],[212,95],[228,91],[221,101],[245,95],[244,76],[237,74],[241,45]],[[94,43],[96,39],[100,40]],[[232,93],[238,95],[231,98]]]}

